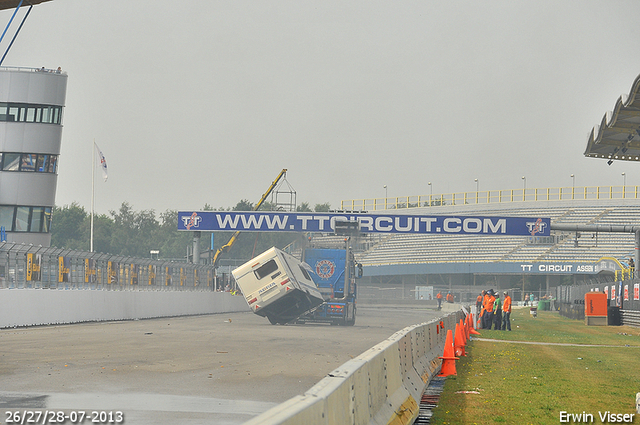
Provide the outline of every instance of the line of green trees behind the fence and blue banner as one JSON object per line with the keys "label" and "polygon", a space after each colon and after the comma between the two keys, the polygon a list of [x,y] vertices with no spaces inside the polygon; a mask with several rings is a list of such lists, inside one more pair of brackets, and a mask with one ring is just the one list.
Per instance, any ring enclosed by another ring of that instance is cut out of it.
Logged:
{"label": "line of green trees behind the fence and blue banner", "polygon": [[[271,211],[275,206],[265,202],[260,211]],[[253,211],[254,204],[246,199],[232,208],[218,208],[217,211]],[[329,203],[316,204],[313,210],[309,203],[303,202],[298,212],[326,212]],[[205,204],[203,211],[216,211]],[[188,250],[193,246],[192,232],[179,232],[178,211],[166,210],[156,215],[155,210],[135,211],[128,202],[123,202],[117,211],[109,214],[94,215],[93,248],[96,252],[149,258],[151,250],[160,251],[161,259],[186,260]],[[55,207],[51,224],[51,245],[89,251],[91,233],[91,215],[77,203]],[[215,232],[214,250],[225,245],[233,232]],[[210,233],[203,232],[200,251],[210,247]],[[248,259],[272,246],[283,248],[300,238],[298,233],[260,233],[243,232],[235,242],[226,258]]]}

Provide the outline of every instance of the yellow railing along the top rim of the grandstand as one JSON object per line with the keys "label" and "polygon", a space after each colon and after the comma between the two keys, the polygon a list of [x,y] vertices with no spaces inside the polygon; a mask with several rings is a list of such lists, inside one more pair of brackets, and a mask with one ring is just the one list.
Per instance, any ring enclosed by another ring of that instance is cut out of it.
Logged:
{"label": "yellow railing along the top rim of the grandstand", "polygon": [[640,199],[640,186],[584,186],[532,189],[487,190],[443,193],[396,198],[350,199],[340,203],[342,210],[375,211],[401,208],[440,207],[465,204],[501,204],[536,201],[588,201]]}

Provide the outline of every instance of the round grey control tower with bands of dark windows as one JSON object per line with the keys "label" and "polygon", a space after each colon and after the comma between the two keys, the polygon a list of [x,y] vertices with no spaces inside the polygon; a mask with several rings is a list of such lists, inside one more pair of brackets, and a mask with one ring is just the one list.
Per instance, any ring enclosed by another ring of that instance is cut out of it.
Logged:
{"label": "round grey control tower with bands of dark windows", "polygon": [[60,69],[0,66],[0,241],[51,244],[66,92]]}

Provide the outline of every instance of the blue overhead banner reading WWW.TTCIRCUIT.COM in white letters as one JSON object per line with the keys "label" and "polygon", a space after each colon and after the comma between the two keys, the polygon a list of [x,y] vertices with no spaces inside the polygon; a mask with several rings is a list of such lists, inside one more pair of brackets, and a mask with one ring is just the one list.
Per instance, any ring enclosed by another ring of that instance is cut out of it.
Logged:
{"label": "blue overhead banner reading WWW.TTCIRCUIT.COM in white letters", "polygon": [[330,233],[336,221],[357,221],[363,233],[549,236],[551,227],[537,217],[181,211],[178,230]]}

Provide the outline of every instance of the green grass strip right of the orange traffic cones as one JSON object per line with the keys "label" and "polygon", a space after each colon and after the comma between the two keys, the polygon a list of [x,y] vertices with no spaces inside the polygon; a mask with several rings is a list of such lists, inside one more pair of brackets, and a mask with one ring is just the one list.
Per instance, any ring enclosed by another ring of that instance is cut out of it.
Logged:
{"label": "green grass strip right of the orange traffic cones", "polygon": [[[511,332],[481,330],[468,343],[432,424],[580,423],[561,421],[561,412],[580,415],[581,422],[621,423],[603,422],[600,414],[636,413],[640,329],[585,326],[556,312],[533,318],[528,308],[514,309],[511,325]],[[640,424],[638,416],[632,423]]]}

